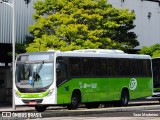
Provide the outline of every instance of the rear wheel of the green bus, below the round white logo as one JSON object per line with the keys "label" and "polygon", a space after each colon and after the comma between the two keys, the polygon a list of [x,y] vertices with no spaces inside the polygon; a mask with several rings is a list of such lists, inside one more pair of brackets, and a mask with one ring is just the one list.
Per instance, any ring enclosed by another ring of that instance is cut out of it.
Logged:
{"label": "rear wheel of the green bus, below the round white logo", "polygon": [[120,106],[127,106],[129,101],[129,93],[128,90],[122,90]]}

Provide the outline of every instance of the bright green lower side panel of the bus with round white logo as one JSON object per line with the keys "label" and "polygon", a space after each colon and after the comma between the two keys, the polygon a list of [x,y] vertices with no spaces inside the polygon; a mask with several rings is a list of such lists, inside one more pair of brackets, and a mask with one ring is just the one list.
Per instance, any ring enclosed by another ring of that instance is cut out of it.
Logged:
{"label": "bright green lower side panel of the bus with round white logo", "polygon": [[[74,78],[58,87],[58,104],[70,103],[74,89],[79,89],[82,102],[114,101],[120,100],[123,88],[128,88],[130,99],[142,98],[152,95],[151,78]],[[132,83],[133,82],[133,83]],[[132,85],[130,85],[132,83]]]}

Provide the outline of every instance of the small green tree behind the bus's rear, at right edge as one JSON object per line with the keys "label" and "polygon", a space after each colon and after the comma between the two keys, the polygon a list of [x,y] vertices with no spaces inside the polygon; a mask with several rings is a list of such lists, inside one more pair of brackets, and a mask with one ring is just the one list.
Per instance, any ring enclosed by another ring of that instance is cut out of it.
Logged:
{"label": "small green tree behind the bus's rear, at right edge", "polygon": [[154,44],[149,47],[143,46],[139,53],[150,55],[153,58],[160,57],[160,44]]}

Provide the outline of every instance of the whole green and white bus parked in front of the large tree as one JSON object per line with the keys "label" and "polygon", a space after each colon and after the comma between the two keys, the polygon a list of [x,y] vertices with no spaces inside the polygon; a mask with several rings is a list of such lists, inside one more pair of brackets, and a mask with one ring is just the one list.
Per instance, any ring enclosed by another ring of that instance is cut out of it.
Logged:
{"label": "whole green and white bus parked in front of the large tree", "polygon": [[96,108],[153,94],[151,57],[121,50],[84,49],[19,54],[16,58],[15,105],[35,107],[80,104]]}

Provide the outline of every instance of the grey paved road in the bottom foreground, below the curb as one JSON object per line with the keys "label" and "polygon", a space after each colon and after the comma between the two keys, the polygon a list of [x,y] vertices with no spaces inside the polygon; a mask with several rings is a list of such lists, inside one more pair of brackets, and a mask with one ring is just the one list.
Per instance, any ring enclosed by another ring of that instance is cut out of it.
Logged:
{"label": "grey paved road in the bottom foreground, below the curb", "polygon": [[110,112],[102,114],[77,115],[70,117],[37,118],[36,120],[42,120],[42,119],[43,120],[160,120],[160,109],[132,111],[132,112]]}

